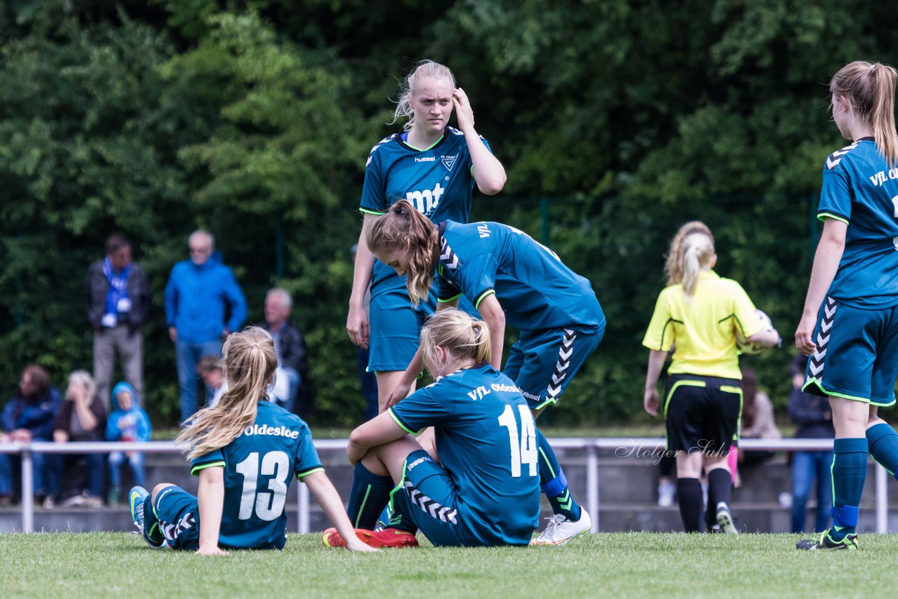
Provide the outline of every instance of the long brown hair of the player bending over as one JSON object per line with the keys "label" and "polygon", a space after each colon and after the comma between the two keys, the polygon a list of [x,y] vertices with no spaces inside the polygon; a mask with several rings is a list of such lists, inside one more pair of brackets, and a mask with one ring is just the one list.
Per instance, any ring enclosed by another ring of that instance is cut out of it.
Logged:
{"label": "long brown hair of the player bending over", "polygon": [[374,254],[404,251],[409,258],[405,286],[411,304],[417,308],[422,299],[427,299],[439,254],[439,233],[427,216],[418,212],[408,200],[401,199],[387,208],[386,214],[374,220],[368,227],[365,241]]}

